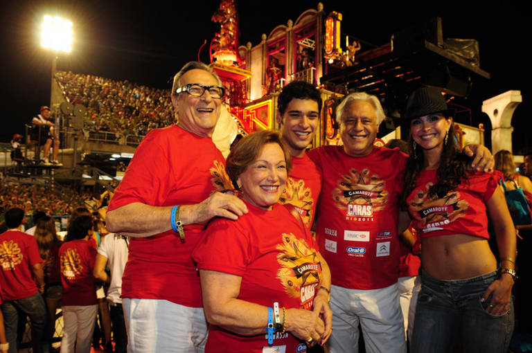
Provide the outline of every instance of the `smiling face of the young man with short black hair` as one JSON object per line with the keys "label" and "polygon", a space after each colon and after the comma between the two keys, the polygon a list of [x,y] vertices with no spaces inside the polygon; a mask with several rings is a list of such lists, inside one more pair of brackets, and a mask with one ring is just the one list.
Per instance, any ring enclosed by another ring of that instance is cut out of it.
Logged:
{"label": "smiling face of the young man with short black hair", "polygon": [[303,156],[312,143],[318,126],[318,110],[315,100],[293,98],[283,116],[277,112],[277,121],[282,124],[281,136],[292,156]]}

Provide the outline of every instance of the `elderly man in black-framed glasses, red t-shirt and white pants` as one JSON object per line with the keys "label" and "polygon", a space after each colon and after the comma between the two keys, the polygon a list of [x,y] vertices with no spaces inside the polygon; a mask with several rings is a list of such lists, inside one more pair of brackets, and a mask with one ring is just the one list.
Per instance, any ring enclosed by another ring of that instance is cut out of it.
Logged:
{"label": "elderly man in black-framed glasses, red t-shirt and white pants", "polygon": [[190,253],[209,219],[247,213],[240,199],[220,192],[230,181],[211,136],[223,96],[208,66],[185,64],[172,87],[177,124],[145,136],[109,205],[107,229],[131,237],[122,284],[131,352],[204,352]]}

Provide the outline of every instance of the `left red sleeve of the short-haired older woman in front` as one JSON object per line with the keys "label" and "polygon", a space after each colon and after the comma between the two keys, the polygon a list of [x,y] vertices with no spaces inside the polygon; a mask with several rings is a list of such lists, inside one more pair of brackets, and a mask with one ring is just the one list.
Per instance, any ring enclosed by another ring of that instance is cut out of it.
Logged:
{"label": "left red sleeve of the short-haired older woman in front", "polygon": [[235,221],[215,219],[197,244],[193,259],[202,270],[244,275],[249,264],[249,237]]}

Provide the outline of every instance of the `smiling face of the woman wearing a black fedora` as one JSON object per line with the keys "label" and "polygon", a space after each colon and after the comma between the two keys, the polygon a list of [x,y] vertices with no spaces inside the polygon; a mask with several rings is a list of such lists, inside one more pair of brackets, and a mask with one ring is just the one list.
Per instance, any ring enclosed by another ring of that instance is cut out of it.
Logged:
{"label": "smiling face of the woman wearing a black fedora", "polygon": [[[452,118],[445,118],[443,114],[429,114],[412,119],[410,132],[412,138],[423,150],[443,150],[445,134],[450,129]],[[436,151],[437,152],[437,151]]]}

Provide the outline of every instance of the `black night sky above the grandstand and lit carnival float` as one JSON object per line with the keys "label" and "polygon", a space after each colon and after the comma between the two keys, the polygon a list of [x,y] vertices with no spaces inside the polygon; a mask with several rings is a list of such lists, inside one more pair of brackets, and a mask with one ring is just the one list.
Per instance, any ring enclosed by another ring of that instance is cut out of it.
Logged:
{"label": "black night sky above the grandstand and lit carnival float", "polygon": [[[318,1],[237,1],[240,14],[240,44],[260,43],[262,33],[295,21],[304,10],[317,8]],[[481,114],[481,102],[510,89],[520,90],[525,102],[513,116],[513,149],[516,154],[532,147],[526,102],[531,92],[528,64],[530,18],[524,8],[463,8],[456,3],[433,2],[438,10],[423,6],[386,8],[384,2],[323,1],[326,13],[342,12],[342,33],[362,39],[362,51],[389,42],[391,34],[423,19],[441,16],[443,37],[479,41],[480,67],[492,75],[475,85],[468,98],[473,125],[489,120]],[[399,3],[405,3],[400,1]],[[24,134],[24,123],[50,100],[51,55],[39,47],[43,15],[60,15],[73,22],[73,51],[60,55],[57,69],[129,80],[148,87],[169,89],[172,75],[207,41],[200,58],[207,62],[209,42],[219,25],[211,21],[218,1],[1,1],[0,92],[3,128],[0,141]],[[261,6],[259,6],[259,4]],[[373,6],[373,7],[372,7]],[[489,136],[486,136],[487,138]],[[528,141],[527,141],[528,140]]]}

